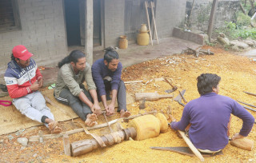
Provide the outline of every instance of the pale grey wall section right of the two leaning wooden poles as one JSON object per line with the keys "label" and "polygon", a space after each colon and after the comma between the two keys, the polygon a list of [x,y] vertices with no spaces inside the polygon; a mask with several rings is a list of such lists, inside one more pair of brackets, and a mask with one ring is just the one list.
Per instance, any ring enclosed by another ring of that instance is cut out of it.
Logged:
{"label": "pale grey wall section right of the two leaning wooden poles", "polygon": [[157,0],[155,22],[159,38],[172,36],[175,26],[184,22],[186,0]]}

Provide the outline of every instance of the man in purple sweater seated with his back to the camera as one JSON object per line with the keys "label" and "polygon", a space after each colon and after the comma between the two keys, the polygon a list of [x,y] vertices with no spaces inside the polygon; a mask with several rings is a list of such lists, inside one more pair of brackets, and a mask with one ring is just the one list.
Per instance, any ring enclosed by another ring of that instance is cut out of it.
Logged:
{"label": "man in purple sweater seated with his back to the camera", "polygon": [[186,104],[181,121],[171,116],[171,128],[184,131],[187,125],[190,141],[201,152],[215,153],[222,150],[229,141],[230,113],[242,119],[242,129],[232,140],[246,137],[254,125],[254,117],[230,97],[218,95],[217,74],[198,76],[198,92],[201,97]]}

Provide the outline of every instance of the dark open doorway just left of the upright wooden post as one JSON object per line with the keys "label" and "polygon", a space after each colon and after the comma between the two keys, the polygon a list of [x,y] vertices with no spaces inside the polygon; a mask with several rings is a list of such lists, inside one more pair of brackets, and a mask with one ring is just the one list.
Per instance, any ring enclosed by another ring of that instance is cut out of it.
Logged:
{"label": "dark open doorway just left of the upright wooden post", "polygon": [[68,46],[80,46],[79,0],[64,0]]}

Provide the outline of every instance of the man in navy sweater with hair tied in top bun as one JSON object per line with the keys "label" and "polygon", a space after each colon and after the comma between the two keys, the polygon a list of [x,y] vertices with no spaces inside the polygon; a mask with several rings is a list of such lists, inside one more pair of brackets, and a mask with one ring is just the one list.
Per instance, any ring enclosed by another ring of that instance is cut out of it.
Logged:
{"label": "man in navy sweater with hair tied in top bun", "polygon": [[[122,63],[119,62],[119,55],[112,47],[106,49],[104,58],[94,62],[92,74],[97,86],[98,99],[102,100],[106,115],[114,114],[114,104],[118,97],[120,117],[129,117],[130,112],[126,109],[126,85],[121,80]],[[106,99],[110,99],[110,90],[112,100],[110,105],[107,105]]]}

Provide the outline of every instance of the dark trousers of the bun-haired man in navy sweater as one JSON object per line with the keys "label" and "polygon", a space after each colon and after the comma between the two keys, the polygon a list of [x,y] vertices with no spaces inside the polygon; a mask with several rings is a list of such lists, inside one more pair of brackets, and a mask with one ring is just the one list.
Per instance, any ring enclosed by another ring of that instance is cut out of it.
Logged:
{"label": "dark trousers of the bun-haired man in navy sweater", "polygon": [[[110,100],[110,91],[111,91],[111,81],[104,80],[104,85],[106,89],[106,100]],[[126,109],[126,85],[121,80],[118,85],[118,112],[120,112],[121,109]],[[101,101],[101,97],[98,94],[98,101]]]}

